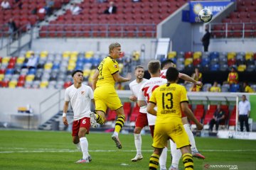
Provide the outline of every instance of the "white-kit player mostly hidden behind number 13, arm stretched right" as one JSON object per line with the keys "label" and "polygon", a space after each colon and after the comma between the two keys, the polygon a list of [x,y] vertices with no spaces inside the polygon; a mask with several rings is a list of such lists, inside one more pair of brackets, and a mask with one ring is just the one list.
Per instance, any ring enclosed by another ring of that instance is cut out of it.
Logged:
{"label": "white-kit player mostly hidden behind number 13, arm stretched right", "polygon": [[[165,60],[164,62],[161,62],[161,78],[164,78],[164,79],[166,78],[166,71],[169,67],[176,67],[172,60]],[[196,84],[198,86],[203,85],[201,81],[196,81],[186,74],[179,73],[178,77],[185,81],[190,81],[191,83]],[[186,115],[182,114],[181,120],[182,120],[183,126],[188,134],[189,141],[191,143],[191,151],[192,151],[193,157],[197,157],[199,159],[205,159],[206,157],[204,157],[202,154],[200,154],[198,152],[198,149],[196,148],[196,142],[193,137],[193,132],[191,132],[191,128],[188,123],[188,118],[186,117]],[[171,145],[172,163],[171,163],[171,167],[169,170],[176,170],[176,169],[178,169],[178,162],[181,159],[181,151],[179,149],[176,149],[176,144],[172,140],[170,140],[170,145]]]}

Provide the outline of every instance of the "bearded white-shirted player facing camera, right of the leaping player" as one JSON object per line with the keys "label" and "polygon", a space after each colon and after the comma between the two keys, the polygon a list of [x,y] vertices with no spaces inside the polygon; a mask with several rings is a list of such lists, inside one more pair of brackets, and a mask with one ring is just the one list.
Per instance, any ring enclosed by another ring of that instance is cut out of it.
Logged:
{"label": "bearded white-shirted player facing camera, right of the leaping player", "polygon": [[[147,81],[147,79],[144,79],[144,67],[142,65],[138,65],[135,67],[134,75],[136,79],[132,81],[129,84],[129,88],[132,91],[132,96],[129,96],[130,101],[137,102],[139,89],[141,89],[142,84]],[[139,108],[139,115],[135,121],[135,128],[134,128],[134,144],[137,150],[136,156],[131,159],[132,162],[137,162],[142,157],[142,128],[144,128],[146,125],[149,125],[148,120],[146,118],[146,106],[142,106]]]}

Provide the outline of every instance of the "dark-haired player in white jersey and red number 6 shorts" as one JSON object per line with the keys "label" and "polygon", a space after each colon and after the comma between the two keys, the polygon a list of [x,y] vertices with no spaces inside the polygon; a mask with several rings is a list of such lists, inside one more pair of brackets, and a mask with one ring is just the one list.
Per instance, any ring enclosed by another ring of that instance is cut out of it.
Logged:
{"label": "dark-haired player in white jersey and red number 6 shorts", "polygon": [[68,125],[66,118],[68,111],[68,104],[71,103],[71,107],[74,112],[74,121],[72,127],[73,143],[82,152],[82,159],[76,163],[88,163],[92,161],[90,154],[88,153],[88,142],[85,134],[89,134],[90,125],[97,125],[95,119],[91,119],[93,116],[90,111],[90,102],[93,101],[93,91],[90,86],[82,84],[83,73],[81,70],[75,70],[72,73],[74,84],[69,86],[65,90],[65,103],[63,106],[63,123]]}

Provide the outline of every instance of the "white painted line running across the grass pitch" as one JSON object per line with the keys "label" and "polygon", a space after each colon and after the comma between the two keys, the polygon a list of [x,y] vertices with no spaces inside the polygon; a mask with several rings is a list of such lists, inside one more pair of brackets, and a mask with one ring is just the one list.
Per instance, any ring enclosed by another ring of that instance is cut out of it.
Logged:
{"label": "white painted line running across the grass pitch", "polygon": [[[21,149],[21,148],[19,148]],[[28,148],[23,148],[28,149]],[[236,150],[222,150],[222,149],[205,149],[201,152],[255,152],[256,149],[236,149]],[[23,151],[0,151],[0,154],[10,153],[40,153],[40,152],[79,152],[76,149],[34,149],[34,150],[23,150]],[[89,150],[89,152],[117,152],[117,150]],[[121,150],[121,152],[136,152],[136,150]],[[153,152],[152,150],[142,150],[142,152]]]}

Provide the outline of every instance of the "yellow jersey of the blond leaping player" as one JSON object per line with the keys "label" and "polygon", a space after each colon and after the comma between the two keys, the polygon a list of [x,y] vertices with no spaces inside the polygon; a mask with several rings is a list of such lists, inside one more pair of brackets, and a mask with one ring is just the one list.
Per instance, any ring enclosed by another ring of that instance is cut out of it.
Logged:
{"label": "yellow jersey of the blond leaping player", "polygon": [[118,63],[112,57],[107,56],[97,67],[100,74],[98,76],[96,86],[113,86],[114,87],[114,77],[112,74],[119,71]]}

